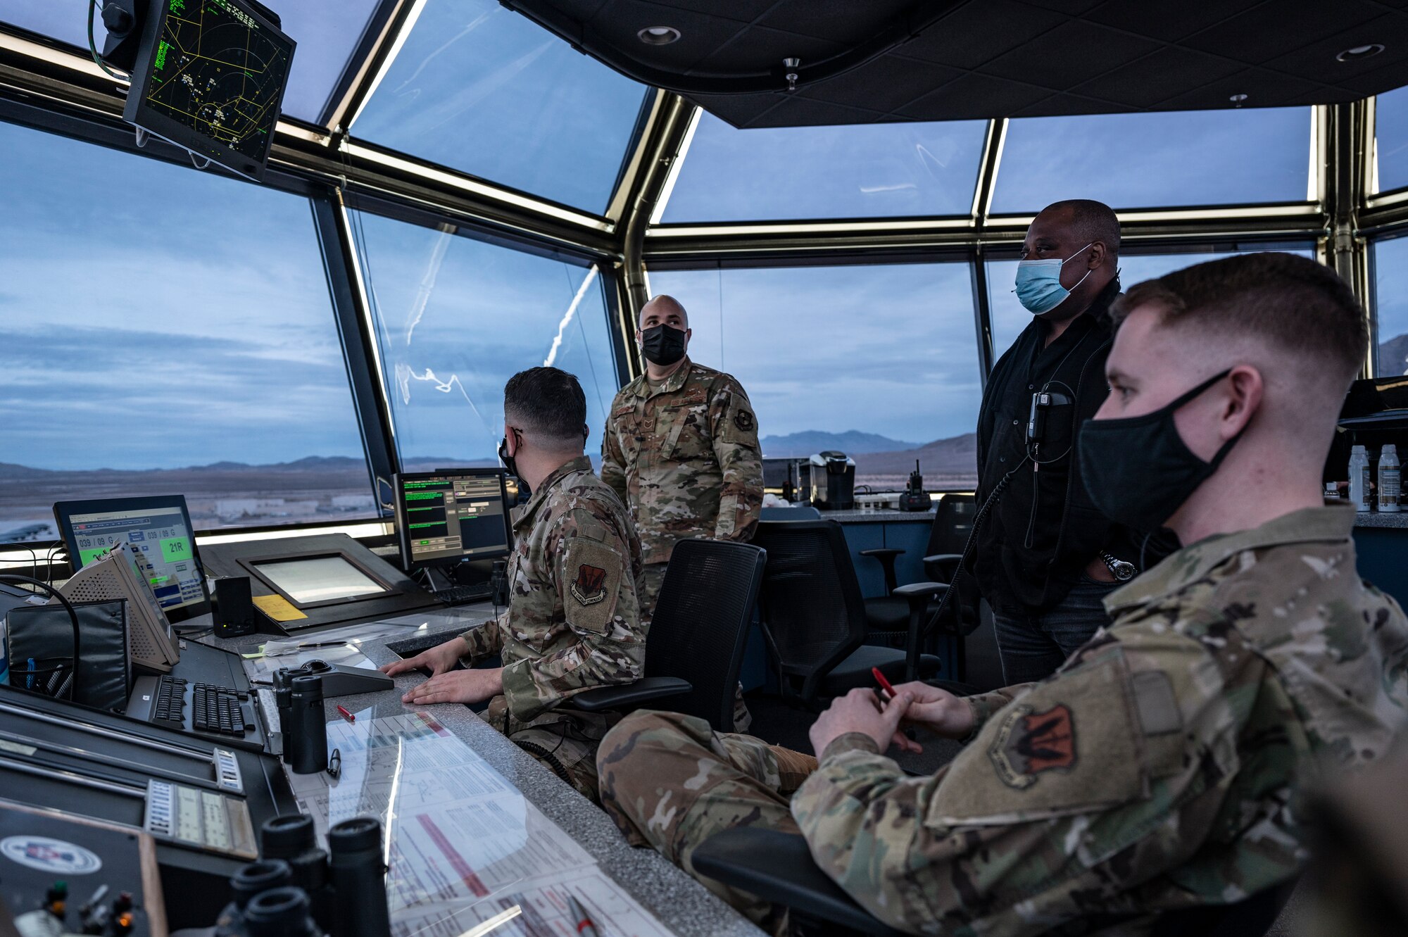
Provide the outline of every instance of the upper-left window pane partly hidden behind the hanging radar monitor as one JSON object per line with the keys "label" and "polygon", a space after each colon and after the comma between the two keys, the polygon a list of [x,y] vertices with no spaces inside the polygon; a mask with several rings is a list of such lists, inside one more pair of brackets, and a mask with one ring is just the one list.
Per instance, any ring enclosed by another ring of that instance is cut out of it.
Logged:
{"label": "upper-left window pane partly hidden behind the hanging radar monitor", "polygon": [[[362,30],[379,0],[298,0],[275,4],[283,31],[298,44],[293,53],[283,113],[317,121],[332,86],[342,76],[348,58],[362,38]],[[79,46],[87,55],[89,0],[0,0],[0,20]],[[93,17],[93,39],[103,48],[100,14]]]}

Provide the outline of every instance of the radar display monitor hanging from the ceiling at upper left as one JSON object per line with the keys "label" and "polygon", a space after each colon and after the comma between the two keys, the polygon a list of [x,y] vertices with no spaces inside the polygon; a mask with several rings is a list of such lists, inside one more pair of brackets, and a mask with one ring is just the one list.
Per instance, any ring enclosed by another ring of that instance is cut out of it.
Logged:
{"label": "radar display monitor hanging from the ceiling at upper left", "polygon": [[251,0],[145,0],[145,31],[122,118],[262,179],[294,41]]}

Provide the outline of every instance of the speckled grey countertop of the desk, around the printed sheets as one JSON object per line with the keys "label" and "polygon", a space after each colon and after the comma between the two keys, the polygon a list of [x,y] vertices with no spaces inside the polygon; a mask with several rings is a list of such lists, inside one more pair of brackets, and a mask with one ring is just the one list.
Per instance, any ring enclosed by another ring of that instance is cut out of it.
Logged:
{"label": "speckled grey countertop of the desk, around the printed sheets", "polygon": [[[407,635],[391,635],[365,642],[362,651],[372,663],[387,664],[398,657],[387,644],[396,644],[415,636],[417,643],[429,646],[439,643],[439,640],[448,640],[491,615],[493,609],[487,604],[479,604],[387,619],[406,622],[411,626],[424,623],[427,627],[418,633],[408,629]],[[297,636],[294,635],[294,637]],[[249,653],[265,642],[282,639],[249,635],[228,640],[214,637],[203,640],[225,650]],[[318,640],[318,633],[308,633],[306,640]],[[396,677],[396,692],[359,694],[329,699],[325,702],[328,720],[334,722],[341,718],[337,712],[337,703],[358,713],[372,709],[375,710],[372,715],[376,718],[413,712],[411,706],[401,703],[401,694],[425,678],[421,674],[413,671]],[[711,937],[714,934],[762,937],[763,931],[753,927],[745,917],[694,882],[659,853],[628,846],[625,837],[601,808],[559,781],[555,774],[528,757],[467,706],[444,703],[420,709],[432,713],[446,729],[474,748],[548,819],[580,843],[605,874],[676,934],[681,934],[681,937]]]}

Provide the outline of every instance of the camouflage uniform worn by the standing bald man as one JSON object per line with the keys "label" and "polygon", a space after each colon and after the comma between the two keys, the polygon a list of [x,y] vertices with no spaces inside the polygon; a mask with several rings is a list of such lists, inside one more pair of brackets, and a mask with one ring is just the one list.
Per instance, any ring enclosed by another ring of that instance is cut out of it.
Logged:
{"label": "camouflage uniform worn by the standing bald man", "polygon": [[[689,357],[658,388],[636,377],[611,401],[601,480],[635,518],[646,563],[641,608],[649,615],[679,540],[746,543],[758,529],[763,463],[743,385]],[[750,722],[739,688],[734,725]]]}

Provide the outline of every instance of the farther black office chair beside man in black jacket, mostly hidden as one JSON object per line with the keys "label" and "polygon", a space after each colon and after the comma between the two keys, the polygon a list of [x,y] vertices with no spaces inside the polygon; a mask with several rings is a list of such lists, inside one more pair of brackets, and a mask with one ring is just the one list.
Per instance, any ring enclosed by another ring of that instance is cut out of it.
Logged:
{"label": "farther black office chair beside man in black jacket, mostly hidden", "polygon": [[[945,609],[943,620],[935,622],[934,627],[922,633],[921,644],[925,650],[934,650],[938,637],[948,637],[953,642],[955,668],[957,680],[967,680],[967,636],[977,630],[981,622],[979,616],[977,582],[962,567],[962,553],[973,532],[973,515],[977,512],[977,499],[969,494],[948,494],[939,501],[934,514],[934,526],[929,528],[929,544],[924,556],[924,574],[931,582],[948,585],[953,595]],[[917,598],[919,592],[905,589],[898,585],[895,577],[895,557],[904,550],[895,547],[877,547],[862,550],[860,556],[867,556],[880,563],[884,570],[886,594],[867,598],[866,620],[874,635],[908,635],[912,632],[910,619],[919,611]],[[942,595],[942,594],[939,594]],[[926,625],[939,609],[938,601],[924,606],[924,623]]]}

